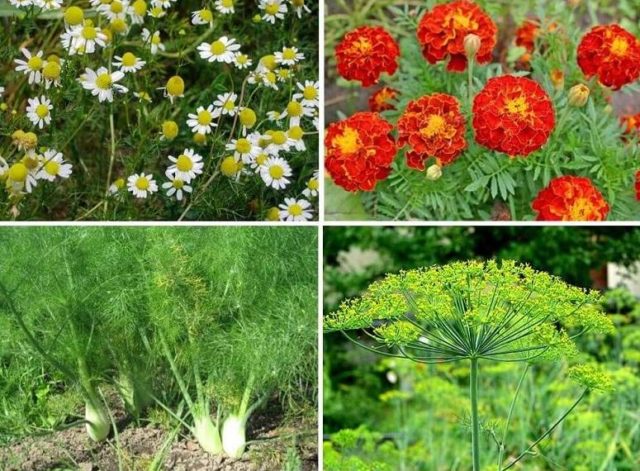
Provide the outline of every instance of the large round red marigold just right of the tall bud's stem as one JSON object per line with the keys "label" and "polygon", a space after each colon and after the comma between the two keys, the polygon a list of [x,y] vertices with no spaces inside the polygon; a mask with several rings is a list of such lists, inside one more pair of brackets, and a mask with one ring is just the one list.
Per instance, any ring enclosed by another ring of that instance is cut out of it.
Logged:
{"label": "large round red marigold just right of the tall bud's stem", "polygon": [[525,77],[491,78],[473,100],[476,141],[512,157],[540,149],[554,126],[549,95]]}

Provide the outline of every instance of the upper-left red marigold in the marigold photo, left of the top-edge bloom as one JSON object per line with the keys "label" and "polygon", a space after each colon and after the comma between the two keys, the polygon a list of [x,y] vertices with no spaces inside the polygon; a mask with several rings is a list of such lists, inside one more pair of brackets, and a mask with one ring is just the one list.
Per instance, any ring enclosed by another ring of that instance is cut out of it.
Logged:
{"label": "upper-left red marigold in the marigold photo, left of the top-edge bloom", "polygon": [[383,72],[393,75],[399,55],[400,48],[380,26],[357,28],[336,46],[338,73],[347,80],[359,80],[363,87],[378,83]]}

